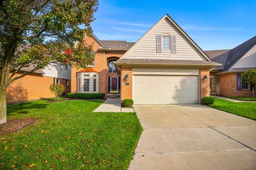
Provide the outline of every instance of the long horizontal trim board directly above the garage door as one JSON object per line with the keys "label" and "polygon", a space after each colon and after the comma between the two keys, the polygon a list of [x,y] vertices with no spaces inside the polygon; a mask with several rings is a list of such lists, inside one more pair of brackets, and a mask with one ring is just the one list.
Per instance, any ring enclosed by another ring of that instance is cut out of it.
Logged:
{"label": "long horizontal trim board directly above the garage door", "polygon": [[132,73],[141,75],[199,75],[199,69],[164,69],[164,68],[143,68],[133,67]]}

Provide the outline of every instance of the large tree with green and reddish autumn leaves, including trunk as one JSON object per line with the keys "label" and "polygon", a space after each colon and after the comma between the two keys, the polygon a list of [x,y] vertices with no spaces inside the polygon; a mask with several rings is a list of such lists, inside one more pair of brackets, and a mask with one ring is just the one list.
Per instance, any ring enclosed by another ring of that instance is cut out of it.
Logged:
{"label": "large tree with green and reddish autumn leaves, including trunk", "polygon": [[[49,64],[92,62],[83,38],[97,9],[98,0],[0,0],[0,124],[10,83]],[[25,67],[33,69],[17,74]]]}

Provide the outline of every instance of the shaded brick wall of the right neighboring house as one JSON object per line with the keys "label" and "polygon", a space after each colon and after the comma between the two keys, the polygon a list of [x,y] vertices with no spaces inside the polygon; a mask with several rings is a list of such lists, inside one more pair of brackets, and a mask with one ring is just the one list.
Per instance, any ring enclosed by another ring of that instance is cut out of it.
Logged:
{"label": "shaded brick wall of the right neighboring house", "polygon": [[220,75],[220,92],[223,96],[252,96],[252,90],[237,90],[237,73],[228,73]]}

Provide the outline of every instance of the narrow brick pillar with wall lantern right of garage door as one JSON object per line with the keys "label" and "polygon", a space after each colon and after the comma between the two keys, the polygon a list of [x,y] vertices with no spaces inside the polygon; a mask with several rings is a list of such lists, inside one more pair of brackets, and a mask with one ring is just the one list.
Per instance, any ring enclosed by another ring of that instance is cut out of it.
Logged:
{"label": "narrow brick pillar with wall lantern right of garage door", "polygon": [[[204,75],[207,75],[208,80],[204,81]],[[200,69],[200,101],[204,96],[210,96],[210,72],[209,69]]]}

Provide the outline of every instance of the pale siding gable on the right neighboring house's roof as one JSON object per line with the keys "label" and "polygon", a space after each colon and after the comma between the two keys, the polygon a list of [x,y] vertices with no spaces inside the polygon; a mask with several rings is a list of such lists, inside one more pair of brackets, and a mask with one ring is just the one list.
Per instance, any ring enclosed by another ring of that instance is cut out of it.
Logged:
{"label": "pale siding gable on the right neighboring house's roof", "polygon": [[256,46],[252,47],[232,68],[256,67]]}

